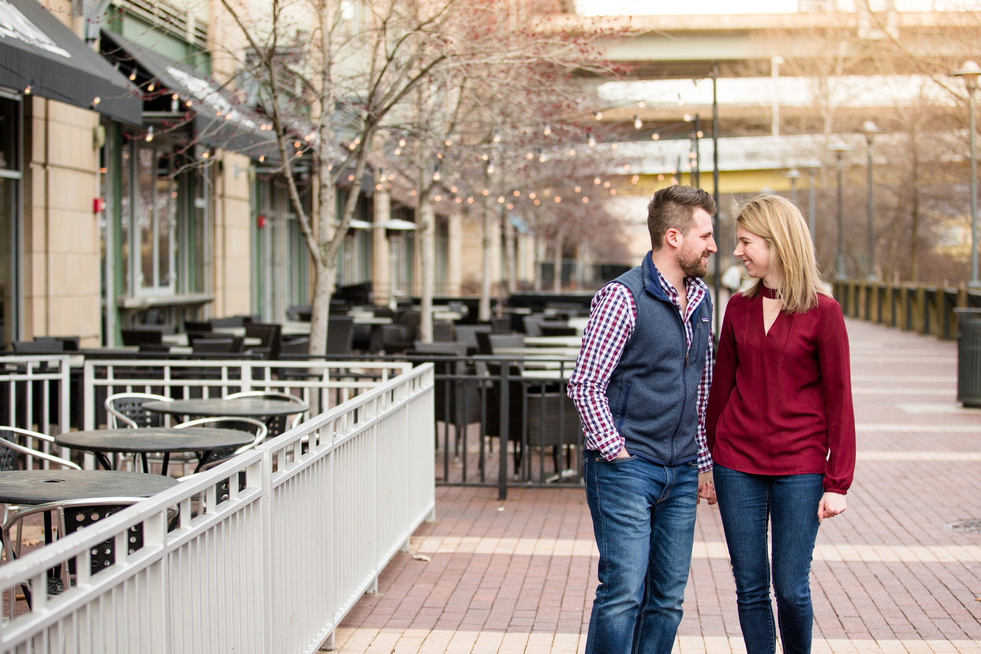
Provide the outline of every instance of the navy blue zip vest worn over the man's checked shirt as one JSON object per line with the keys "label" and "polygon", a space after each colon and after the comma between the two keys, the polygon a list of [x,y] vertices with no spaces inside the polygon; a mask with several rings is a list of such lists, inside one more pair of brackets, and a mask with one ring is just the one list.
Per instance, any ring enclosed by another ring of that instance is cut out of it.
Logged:
{"label": "navy blue zip vest worn over the man's checked shirt", "polygon": [[[627,451],[677,466],[698,457],[698,382],[711,337],[712,300],[706,293],[689,319],[687,347],[681,314],[657,280],[650,253],[644,263],[610,283],[630,290],[637,325],[606,387],[606,399]],[[684,289],[680,289],[684,292]]]}

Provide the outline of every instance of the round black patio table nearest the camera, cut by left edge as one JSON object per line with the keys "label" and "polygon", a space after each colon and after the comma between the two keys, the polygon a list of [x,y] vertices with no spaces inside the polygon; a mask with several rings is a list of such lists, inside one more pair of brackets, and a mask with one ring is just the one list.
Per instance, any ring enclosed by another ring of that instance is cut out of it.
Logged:
{"label": "round black patio table nearest the camera, cut by left edge", "polygon": [[91,497],[149,497],[175,478],[106,470],[15,470],[0,473],[0,502],[45,504]]}

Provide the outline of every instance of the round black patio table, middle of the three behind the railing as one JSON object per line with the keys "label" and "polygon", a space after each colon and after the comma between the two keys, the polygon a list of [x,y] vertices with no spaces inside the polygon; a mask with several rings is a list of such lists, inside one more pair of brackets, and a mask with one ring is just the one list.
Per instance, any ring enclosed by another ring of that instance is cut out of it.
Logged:
{"label": "round black patio table, middle of the three behind the railing", "polygon": [[216,428],[93,429],[69,431],[55,436],[56,445],[93,452],[106,470],[112,470],[112,464],[106,458],[105,452],[142,455],[144,473],[150,472],[146,455],[163,452],[161,475],[167,475],[172,452],[199,452],[197,469],[194,471],[196,473],[213,451],[241,447],[253,440],[255,434],[248,431]]}

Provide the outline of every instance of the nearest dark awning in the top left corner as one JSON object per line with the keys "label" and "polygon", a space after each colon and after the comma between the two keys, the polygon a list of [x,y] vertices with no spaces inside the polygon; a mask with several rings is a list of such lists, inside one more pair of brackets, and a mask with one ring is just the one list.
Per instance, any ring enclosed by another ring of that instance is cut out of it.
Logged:
{"label": "nearest dark awning in the top left corner", "polygon": [[0,85],[141,122],[127,78],[35,0],[0,0]]}

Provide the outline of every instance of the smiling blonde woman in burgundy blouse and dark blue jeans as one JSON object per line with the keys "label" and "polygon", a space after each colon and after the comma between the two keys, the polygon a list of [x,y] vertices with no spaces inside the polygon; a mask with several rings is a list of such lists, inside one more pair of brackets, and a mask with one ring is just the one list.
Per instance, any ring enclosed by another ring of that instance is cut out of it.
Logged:
{"label": "smiling blonde woman in burgundy blouse and dark blue jeans", "polygon": [[770,522],[783,651],[799,654],[810,652],[817,528],[845,511],[854,472],[848,333],[796,205],[762,195],[736,225],[734,254],[756,281],[726,307],[706,435],[747,651],[776,649]]}

